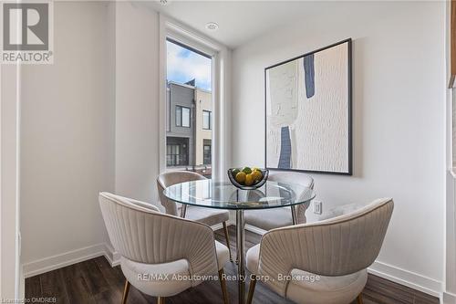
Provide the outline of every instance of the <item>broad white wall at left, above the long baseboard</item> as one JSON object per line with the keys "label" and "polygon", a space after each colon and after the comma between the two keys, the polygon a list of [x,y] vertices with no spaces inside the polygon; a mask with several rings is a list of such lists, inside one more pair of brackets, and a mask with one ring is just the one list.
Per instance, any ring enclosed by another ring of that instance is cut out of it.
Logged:
{"label": "broad white wall at left, above the long baseboard", "polygon": [[54,64],[22,67],[21,230],[28,270],[47,266],[40,259],[104,243],[98,192],[114,191],[109,4],[54,6]]}

